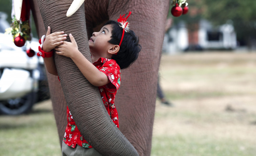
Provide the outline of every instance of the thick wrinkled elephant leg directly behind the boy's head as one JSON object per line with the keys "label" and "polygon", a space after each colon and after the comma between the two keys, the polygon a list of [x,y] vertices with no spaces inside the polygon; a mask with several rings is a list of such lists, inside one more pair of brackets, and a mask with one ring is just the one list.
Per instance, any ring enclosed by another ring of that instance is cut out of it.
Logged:
{"label": "thick wrinkled elephant leg directly behind the boy's head", "polygon": [[112,0],[108,8],[110,20],[132,11],[128,21],[142,46],[137,61],[121,70],[122,83],[115,100],[120,130],[140,156],[149,156],[151,152],[157,77],[168,9],[169,0]]}

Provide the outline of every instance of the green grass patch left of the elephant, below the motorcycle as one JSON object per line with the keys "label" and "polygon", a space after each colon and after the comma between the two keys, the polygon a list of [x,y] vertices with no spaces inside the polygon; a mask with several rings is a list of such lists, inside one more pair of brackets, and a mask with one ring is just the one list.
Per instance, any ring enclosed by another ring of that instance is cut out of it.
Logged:
{"label": "green grass patch left of the elephant, below the motorcycle", "polygon": [[1,156],[61,155],[50,104],[39,103],[28,115],[0,116]]}

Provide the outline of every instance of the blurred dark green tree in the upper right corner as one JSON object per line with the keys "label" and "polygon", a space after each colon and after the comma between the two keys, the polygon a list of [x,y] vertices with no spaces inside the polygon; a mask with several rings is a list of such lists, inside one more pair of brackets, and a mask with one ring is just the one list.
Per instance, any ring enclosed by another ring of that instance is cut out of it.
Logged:
{"label": "blurred dark green tree in the upper right corner", "polygon": [[[205,11],[203,17],[220,25],[231,22],[238,40],[245,40],[247,45],[256,35],[256,3],[252,0],[203,0]],[[249,45],[250,46],[250,45]]]}

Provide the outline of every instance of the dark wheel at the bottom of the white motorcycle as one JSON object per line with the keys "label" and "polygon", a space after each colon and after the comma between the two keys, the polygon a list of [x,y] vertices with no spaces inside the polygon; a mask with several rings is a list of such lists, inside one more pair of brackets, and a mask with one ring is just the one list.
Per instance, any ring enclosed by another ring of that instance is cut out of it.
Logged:
{"label": "dark wheel at the bottom of the white motorcycle", "polygon": [[31,92],[23,97],[0,101],[0,113],[6,115],[19,115],[31,111],[35,103],[36,93]]}

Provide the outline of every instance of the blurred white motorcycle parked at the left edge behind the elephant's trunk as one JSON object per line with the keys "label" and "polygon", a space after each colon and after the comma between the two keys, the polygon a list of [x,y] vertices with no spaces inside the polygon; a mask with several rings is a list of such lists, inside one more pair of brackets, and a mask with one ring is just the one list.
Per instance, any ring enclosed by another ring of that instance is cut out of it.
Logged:
{"label": "blurred white motorcycle parked at the left edge behind the elephant's trunk", "polygon": [[[38,56],[28,57],[26,47],[12,40],[0,33],[0,113],[17,115],[30,111],[37,101],[40,71]],[[37,53],[39,43],[33,43],[30,47]]]}

